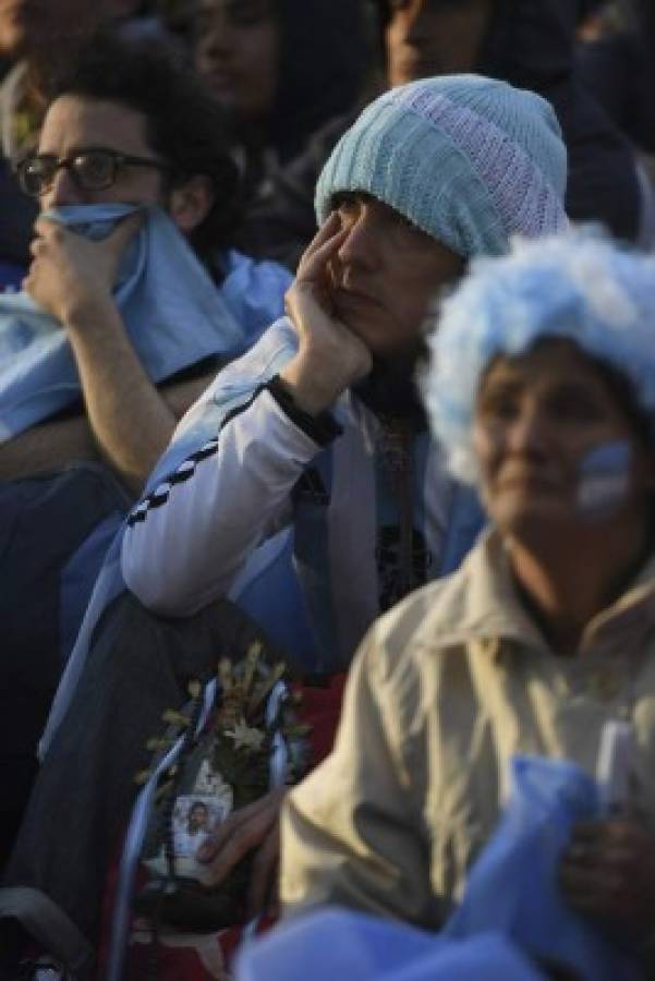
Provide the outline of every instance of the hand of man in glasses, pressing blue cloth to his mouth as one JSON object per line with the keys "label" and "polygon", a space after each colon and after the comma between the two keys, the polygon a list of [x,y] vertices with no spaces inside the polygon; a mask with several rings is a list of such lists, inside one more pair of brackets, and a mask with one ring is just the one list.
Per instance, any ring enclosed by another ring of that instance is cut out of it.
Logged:
{"label": "hand of man in glasses, pressing blue cloth to his mouth", "polygon": [[23,281],[35,303],[64,326],[84,329],[87,314],[111,302],[119,259],[142,222],[140,214],[121,221],[101,242],[39,218],[31,251],[32,265]]}

